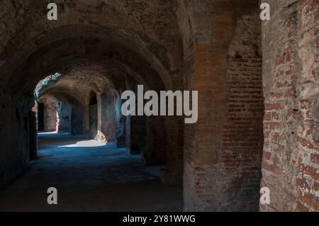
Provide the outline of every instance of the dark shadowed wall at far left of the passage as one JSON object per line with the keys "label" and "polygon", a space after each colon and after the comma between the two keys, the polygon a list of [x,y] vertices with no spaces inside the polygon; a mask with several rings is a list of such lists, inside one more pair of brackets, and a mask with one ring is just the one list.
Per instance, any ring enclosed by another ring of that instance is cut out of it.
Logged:
{"label": "dark shadowed wall at far left of the passage", "polygon": [[3,187],[28,168],[30,150],[34,147],[30,141],[35,136],[28,125],[34,123],[34,118],[28,117],[31,109],[23,106],[33,106],[34,99],[22,94],[12,96],[10,89],[1,84],[0,87],[0,113],[6,116],[0,120],[0,187]]}

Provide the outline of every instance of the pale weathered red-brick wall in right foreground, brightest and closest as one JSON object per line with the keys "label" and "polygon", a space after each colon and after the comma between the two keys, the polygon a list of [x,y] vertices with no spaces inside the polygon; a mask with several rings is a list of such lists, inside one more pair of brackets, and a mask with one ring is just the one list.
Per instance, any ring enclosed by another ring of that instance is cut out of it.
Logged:
{"label": "pale weathered red-brick wall in right foreground, brightest and closest", "polygon": [[265,97],[262,211],[319,208],[318,1],[267,1],[262,23]]}

